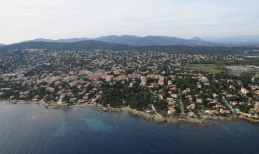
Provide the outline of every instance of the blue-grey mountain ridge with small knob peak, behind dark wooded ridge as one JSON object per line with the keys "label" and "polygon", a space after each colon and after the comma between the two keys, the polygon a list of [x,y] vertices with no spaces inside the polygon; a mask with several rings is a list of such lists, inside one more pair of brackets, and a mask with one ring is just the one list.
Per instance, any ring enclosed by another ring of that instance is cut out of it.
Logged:
{"label": "blue-grey mountain ridge with small knob peak, behind dark wooded ridge", "polygon": [[126,45],[215,45],[215,43],[209,43],[202,40],[186,40],[183,38],[176,37],[167,37],[167,36],[132,36],[132,35],[123,35],[123,36],[102,36],[99,38],[69,38],[69,39],[59,39],[51,40],[44,38],[37,38],[35,40],[25,41],[41,41],[41,42],[60,42],[60,43],[72,43],[77,41],[102,41],[106,43],[117,43],[117,44],[126,44]]}

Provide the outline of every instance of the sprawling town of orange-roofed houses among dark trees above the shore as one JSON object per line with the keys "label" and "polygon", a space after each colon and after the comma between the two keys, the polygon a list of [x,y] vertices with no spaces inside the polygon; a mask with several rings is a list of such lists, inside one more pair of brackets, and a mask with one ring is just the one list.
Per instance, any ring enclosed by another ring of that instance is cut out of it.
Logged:
{"label": "sprawling town of orange-roofed houses among dark trees above the shore", "polygon": [[230,76],[181,67],[240,59],[134,50],[12,50],[0,58],[0,98],[47,106],[130,106],[167,118],[258,118],[259,85],[253,72]]}

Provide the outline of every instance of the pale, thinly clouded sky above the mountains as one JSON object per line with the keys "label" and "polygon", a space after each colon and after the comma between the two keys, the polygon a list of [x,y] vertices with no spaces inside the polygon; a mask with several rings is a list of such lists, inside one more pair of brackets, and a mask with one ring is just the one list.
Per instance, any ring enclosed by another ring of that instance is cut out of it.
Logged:
{"label": "pale, thinly clouded sky above the mountains", "polygon": [[1,0],[0,43],[259,34],[258,0]]}

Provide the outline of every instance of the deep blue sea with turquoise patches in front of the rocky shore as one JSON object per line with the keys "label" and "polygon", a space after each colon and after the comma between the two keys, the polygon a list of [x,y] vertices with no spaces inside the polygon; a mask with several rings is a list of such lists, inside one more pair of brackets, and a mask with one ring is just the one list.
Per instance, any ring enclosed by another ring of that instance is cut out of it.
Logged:
{"label": "deep blue sea with turquoise patches in front of the rocky shore", "polygon": [[0,153],[259,153],[259,125],[158,125],[94,107],[0,104]]}

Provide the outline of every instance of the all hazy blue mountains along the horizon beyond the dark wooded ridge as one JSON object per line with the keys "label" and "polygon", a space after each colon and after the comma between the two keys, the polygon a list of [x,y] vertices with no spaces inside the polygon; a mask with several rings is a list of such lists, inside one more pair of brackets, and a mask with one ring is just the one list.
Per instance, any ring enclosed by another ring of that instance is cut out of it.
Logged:
{"label": "all hazy blue mountains along the horizon beyond the dark wooded ridge", "polygon": [[[34,40],[24,41],[24,42],[59,42],[59,43],[73,43],[78,41],[102,41],[105,43],[116,43],[116,44],[125,44],[125,45],[209,45],[209,46],[218,46],[218,45],[256,45],[259,44],[259,35],[237,35],[237,36],[208,36],[208,37],[194,37],[190,39],[183,39],[177,37],[169,36],[133,36],[133,35],[123,35],[123,36],[102,36],[98,38],[68,38],[68,39],[45,39],[45,38],[36,38]],[[0,46],[3,45],[0,43]]]}

